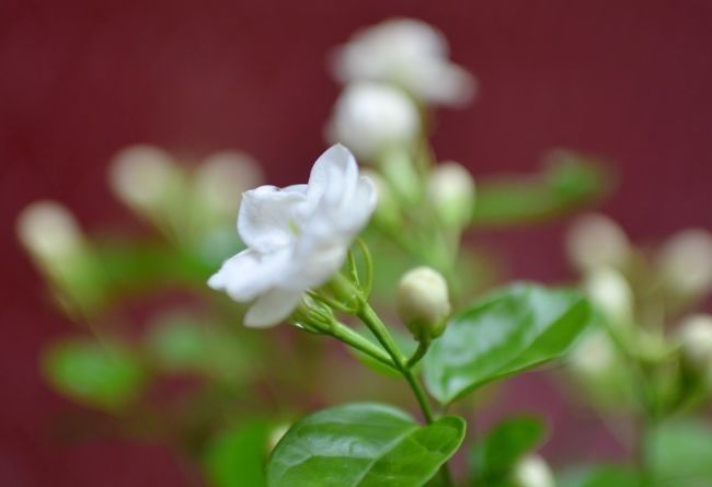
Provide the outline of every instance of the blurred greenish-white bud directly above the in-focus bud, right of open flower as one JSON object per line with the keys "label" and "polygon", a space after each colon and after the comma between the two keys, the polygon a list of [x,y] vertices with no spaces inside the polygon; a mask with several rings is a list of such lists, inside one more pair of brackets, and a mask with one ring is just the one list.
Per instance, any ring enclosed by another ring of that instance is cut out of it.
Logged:
{"label": "blurred greenish-white bud directly above the in-focus bud, right of open flower", "polygon": [[474,179],[457,162],[444,162],[435,167],[427,184],[428,198],[443,222],[463,228],[474,210]]}

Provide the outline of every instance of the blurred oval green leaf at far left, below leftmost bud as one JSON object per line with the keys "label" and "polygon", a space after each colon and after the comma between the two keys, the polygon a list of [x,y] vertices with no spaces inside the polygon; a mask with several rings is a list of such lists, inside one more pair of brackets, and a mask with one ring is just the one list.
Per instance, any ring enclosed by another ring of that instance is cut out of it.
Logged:
{"label": "blurred oval green leaf at far left, below leftmost bud", "polygon": [[45,350],[43,371],[59,393],[110,411],[134,402],[146,380],[140,361],[125,347],[79,339],[53,344]]}

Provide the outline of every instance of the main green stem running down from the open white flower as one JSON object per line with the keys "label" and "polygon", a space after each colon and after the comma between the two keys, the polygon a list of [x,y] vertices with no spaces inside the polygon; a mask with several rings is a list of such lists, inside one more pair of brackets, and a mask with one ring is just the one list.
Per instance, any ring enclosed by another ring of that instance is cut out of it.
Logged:
{"label": "main green stem running down from the open white flower", "polygon": [[[364,302],[363,306],[357,313],[357,316],[360,318],[360,321],[364,322],[364,324],[366,324],[366,326],[368,326],[368,329],[371,331],[374,336],[376,336],[378,341],[383,346],[386,351],[391,356],[393,363],[398,367],[403,378],[405,378],[407,385],[410,385],[411,390],[413,391],[413,394],[415,395],[415,398],[417,399],[417,403],[421,406],[421,410],[423,413],[423,417],[425,418],[425,422],[427,422],[428,425],[432,424],[435,420],[435,416],[433,414],[433,408],[430,407],[430,404],[427,402],[425,391],[423,391],[423,386],[417,381],[415,374],[413,373],[413,371],[410,369],[407,364],[407,359],[403,356],[401,350],[398,348],[395,340],[393,340],[393,337],[391,337],[390,333],[388,333],[388,328],[386,327],[381,318],[378,316],[378,314],[367,302]],[[423,355],[425,355],[425,350],[423,351]],[[448,468],[447,463],[445,463],[440,467],[440,476],[443,477],[443,482],[446,487],[452,486],[452,477],[450,475],[450,471]]]}

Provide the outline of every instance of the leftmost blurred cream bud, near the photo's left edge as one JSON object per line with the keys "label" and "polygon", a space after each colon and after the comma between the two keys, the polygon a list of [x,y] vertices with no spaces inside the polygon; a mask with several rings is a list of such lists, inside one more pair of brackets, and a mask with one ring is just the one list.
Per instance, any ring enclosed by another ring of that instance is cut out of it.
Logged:
{"label": "leftmost blurred cream bud, near the photo's left edge", "polygon": [[18,217],[16,228],[22,244],[45,264],[61,263],[83,242],[74,217],[55,201],[36,201],[26,207]]}

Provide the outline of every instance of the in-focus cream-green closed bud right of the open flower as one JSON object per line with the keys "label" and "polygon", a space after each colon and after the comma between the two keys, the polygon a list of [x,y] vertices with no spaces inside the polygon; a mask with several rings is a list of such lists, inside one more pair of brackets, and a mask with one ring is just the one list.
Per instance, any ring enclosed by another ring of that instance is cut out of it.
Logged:
{"label": "in-focus cream-green closed bud right of the open flower", "polygon": [[398,287],[398,313],[418,341],[443,335],[450,314],[445,278],[429,267],[417,267],[403,275]]}

